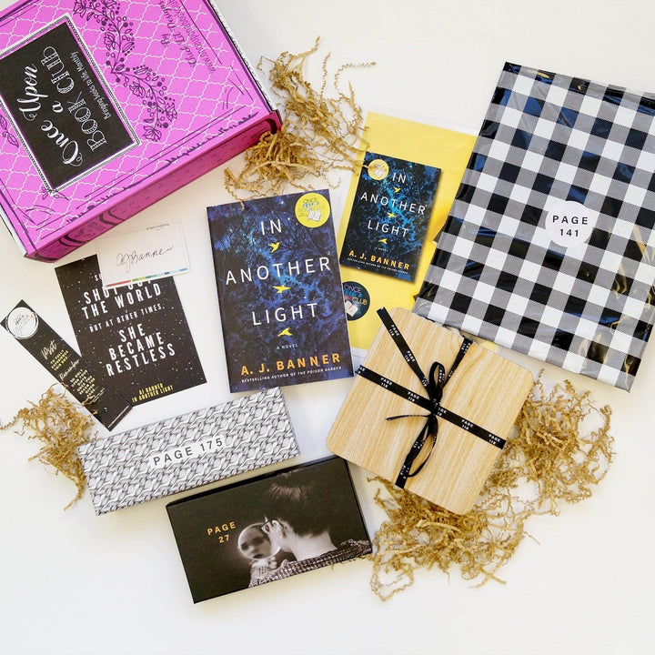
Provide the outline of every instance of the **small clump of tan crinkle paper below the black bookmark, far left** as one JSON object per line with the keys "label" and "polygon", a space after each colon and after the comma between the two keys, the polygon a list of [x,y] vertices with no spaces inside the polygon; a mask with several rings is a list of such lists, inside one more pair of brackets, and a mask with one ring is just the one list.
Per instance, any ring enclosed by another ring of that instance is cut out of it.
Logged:
{"label": "small clump of tan crinkle paper below the black bookmark, far left", "polygon": [[38,403],[20,409],[1,430],[13,428],[16,433],[35,438],[43,443],[30,458],[38,459],[46,468],[55,469],[76,484],[77,495],[64,509],[82,498],[86,478],[77,447],[95,437],[94,419],[80,411],[80,406],[66,398],[65,391],[48,388]]}

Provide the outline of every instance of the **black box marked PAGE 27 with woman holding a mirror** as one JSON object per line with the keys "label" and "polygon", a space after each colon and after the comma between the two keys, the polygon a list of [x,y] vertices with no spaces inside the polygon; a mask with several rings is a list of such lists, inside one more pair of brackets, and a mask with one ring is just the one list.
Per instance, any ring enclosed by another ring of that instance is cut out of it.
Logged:
{"label": "black box marked PAGE 27 with woman holding a mirror", "polygon": [[368,555],[343,459],[320,459],[166,506],[194,602]]}

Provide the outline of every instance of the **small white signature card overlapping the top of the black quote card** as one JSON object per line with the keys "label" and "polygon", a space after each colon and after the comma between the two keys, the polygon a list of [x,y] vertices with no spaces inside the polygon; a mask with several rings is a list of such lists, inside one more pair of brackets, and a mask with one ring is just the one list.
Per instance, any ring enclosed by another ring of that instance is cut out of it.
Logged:
{"label": "small white signature card overlapping the top of the black quote card", "polygon": [[190,270],[184,234],[176,223],[99,239],[97,256],[106,288]]}

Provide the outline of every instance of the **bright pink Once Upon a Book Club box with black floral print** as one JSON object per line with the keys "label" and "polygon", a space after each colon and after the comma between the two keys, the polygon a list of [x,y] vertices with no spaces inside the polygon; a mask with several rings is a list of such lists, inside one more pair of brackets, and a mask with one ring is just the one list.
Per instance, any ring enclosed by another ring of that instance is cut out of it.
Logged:
{"label": "bright pink Once Upon a Book Club box with black floral print", "polygon": [[0,14],[0,213],[53,261],[280,126],[207,0]]}

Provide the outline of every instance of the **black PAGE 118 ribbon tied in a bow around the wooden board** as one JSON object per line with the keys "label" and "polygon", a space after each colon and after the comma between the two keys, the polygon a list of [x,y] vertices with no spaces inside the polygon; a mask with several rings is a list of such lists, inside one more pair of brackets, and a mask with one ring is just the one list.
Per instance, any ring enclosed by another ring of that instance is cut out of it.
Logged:
{"label": "black PAGE 118 ribbon tied in a bow around the wooden board", "polygon": [[[469,352],[469,348],[472,343],[470,339],[465,338],[462,341],[462,345],[459,348],[459,353],[455,358],[452,367],[448,371],[448,374],[446,373],[446,368],[444,368],[442,364],[436,361],[433,362],[429,370],[429,375],[426,377],[421,368],[418,366],[417,358],[414,357],[414,353],[411,351],[411,348],[409,348],[407,341],[400,334],[398,326],[396,323],[394,323],[393,318],[389,316],[387,309],[384,307],[378,309],[378,315],[382,319],[382,323],[384,324],[385,328],[387,328],[387,331],[391,338],[394,340],[398,350],[402,354],[403,358],[405,358],[405,361],[408,363],[409,368],[412,369],[414,374],[420,380],[421,385],[428,393],[428,398],[425,398],[408,388],[402,387],[393,380],[385,378],[370,368],[366,368],[364,366],[360,366],[358,368],[358,375],[362,378],[367,378],[371,382],[377,384],[379,387],[386,388],[392,393],[395,393],[400,398],[405,398],[409,402],[414,403],[414,405],[418,405],[418,407],[427,409],[429,412],[427,416],[424,414],[402,414],[400,416],[387,418],[387,420],[396,420],[397,418],[408,417],[426,418],[426,424],[418,433],[418,437],[415,439],[412,447],[409,448],[407,457],[405,458],[405,461],[400,468],[398,478],[396,479],[396,485],[401,489],[404,488],[407,484],[408,478],[413,478],[415,475],[417,475],[428,462],[428,459],[432,454],[432,450],[437,443],[438,418],[446,419],[448,423],[452,423],[453,425],[458,426],[458,428],[462,428],[467,432],[475,435],[476,437],[484,439],[492,446],[503,448],[505,446],[504,438],[500,438],[488,430],[480,428],[475,423],[472,423],[466,418],[460,417],[458,414],[455,414],[455,412],[451,412],[449,409],[443,407],[440,404],[441,398],[443,397],[444,387],[446,386],[448,380],[452,377],[452,374],[459,367],[461,360],[464,358],[467,352]],[[423,459],[423,461],[418,465],[417,469],[412,471],[411,469],[414,466],[414,463],[416,462],[416,459],[418,458],[418,455],[423,449],[428,438],[431,441],[428,454],[425,459]]]}

